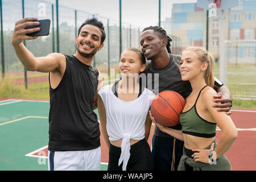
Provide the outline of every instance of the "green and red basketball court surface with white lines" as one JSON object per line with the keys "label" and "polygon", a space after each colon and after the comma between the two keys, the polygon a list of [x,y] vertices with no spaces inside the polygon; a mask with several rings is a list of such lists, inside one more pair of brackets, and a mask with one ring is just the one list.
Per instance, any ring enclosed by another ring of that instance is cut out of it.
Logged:
{"label": "green and red basketball court surface with white lines", "polygon": [[[97,110],[94,110],[97,113]],[[0,170],[48,170],[49,101],[0,99]],[[238,138],[226,156],[233,170],[256,170],[256,110],[232,109]],[[154,125],[148,143],[151,146]],[[221,131],[217,129],[217,141]],[[108,167],[108,149],[101,136],[101,171]]]}

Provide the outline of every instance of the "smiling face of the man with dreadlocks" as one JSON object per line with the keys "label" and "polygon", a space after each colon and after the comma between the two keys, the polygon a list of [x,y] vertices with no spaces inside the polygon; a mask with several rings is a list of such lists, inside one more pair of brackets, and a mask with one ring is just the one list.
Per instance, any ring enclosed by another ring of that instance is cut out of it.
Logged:
{"label": "smiling face of the man with dreadlocks", "polygon": [[[164,40],[164,39],[162,39]],[[154,59],[163,47],[163,42],[154,30],[146,30],[141,34],[141,51],[148,60]]]}

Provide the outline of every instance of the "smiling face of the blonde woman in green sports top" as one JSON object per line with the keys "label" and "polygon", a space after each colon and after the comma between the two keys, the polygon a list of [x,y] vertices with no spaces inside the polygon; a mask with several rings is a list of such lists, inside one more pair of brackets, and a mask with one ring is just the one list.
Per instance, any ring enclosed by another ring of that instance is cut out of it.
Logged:
{"label": "smiling face of the blonde woman in green sports top", "polygon": [[199,60],[195,51],[184,51],[180,60],[181,79],[183,81],[190,81],[200,75],[201,77],[204,77],[204,72],[207,65],[208,64],[206,62],[202,63],[201,60]]}

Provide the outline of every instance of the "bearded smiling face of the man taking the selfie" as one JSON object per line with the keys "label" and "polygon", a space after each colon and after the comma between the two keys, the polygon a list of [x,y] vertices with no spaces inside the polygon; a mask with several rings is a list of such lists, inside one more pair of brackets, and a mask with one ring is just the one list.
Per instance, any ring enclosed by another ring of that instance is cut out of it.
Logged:
{"label": "bearded smiling face of the man taking the selfie", "polygon": [[81,28],[79,36],[76,38],[77,52],[84,57],[92,57],[103,47],[101,44],[100,28],[91,24],[86,24]]}

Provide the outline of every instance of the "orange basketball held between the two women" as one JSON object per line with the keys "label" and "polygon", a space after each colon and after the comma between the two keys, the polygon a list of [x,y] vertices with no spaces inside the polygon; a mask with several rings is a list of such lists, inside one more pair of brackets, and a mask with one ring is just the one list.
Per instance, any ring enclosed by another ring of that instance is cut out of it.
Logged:
{"label": "orange basketball held between the two women", "polygon": [[177,92],[160,92],[151,104],[151,114],[155,121],[163,126],[175,126],[180,123],[180,112],[185,106],[184,98]]}

